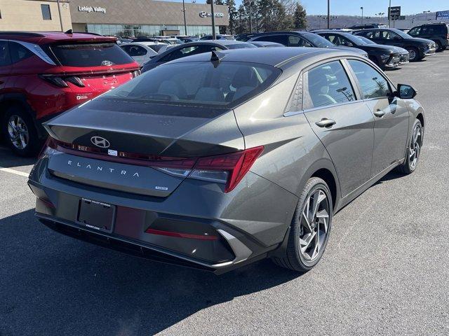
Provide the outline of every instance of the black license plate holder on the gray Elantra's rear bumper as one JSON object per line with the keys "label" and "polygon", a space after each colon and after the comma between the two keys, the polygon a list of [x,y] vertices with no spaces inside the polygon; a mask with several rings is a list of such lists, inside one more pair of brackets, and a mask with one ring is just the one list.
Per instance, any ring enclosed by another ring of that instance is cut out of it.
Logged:
{"label": "black license plate holder on the gray Elantra's rear bumper", "polygon": [[116,207],[112,204],[81,198],[77,221],[80,225],[103,232],[114,230]]}

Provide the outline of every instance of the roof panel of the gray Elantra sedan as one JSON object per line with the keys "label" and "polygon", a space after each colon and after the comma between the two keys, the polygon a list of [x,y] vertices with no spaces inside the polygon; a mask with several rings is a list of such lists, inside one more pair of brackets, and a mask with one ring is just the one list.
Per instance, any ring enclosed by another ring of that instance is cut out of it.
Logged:
{"label": "roof panel of the gray Elantra sedan", "polygon": [[[328,49],[328,48],[301,48],[301,47],[274,47],[274,48],[242,48],[232,50],[222,50],[215,52],[216,55],[222,55],[220,62],[252,62],[258,64],[271,65],[276,67],[288,68],[297,62],[306,62],[307,59],[330,58],[356,56],[362,58],[355,52],[348,50]],[[188,57],[175,59],[167,64],[182,62],[206,62],[210,61],[211,52],[203,52]]]}

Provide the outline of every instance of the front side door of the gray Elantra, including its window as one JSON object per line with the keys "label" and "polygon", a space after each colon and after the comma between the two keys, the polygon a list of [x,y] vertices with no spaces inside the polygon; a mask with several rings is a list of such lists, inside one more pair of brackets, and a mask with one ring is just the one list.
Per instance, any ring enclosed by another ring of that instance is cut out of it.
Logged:
{"label": "front side door of the gray Elantra, including its window", "polygon": [[409,129],[409,113],[405,102],[393,97],[391,83],[380,71],[358,59],[348,59],[357,78],[363,102],[375,117],[373,176],[404,158]]}

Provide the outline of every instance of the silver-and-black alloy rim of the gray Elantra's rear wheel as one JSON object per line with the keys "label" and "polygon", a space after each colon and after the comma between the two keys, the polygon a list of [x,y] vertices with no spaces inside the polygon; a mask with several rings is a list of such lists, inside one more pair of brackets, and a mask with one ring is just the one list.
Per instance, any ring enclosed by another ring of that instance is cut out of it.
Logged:
{"label": "silver-and-black alloy rim of the gray Elantra's rear wheel", "polygon": [[306,262],[319,258],[328,236],[329,212],[328,196],[324,190],[314,190],[301,214],[300,253]]}

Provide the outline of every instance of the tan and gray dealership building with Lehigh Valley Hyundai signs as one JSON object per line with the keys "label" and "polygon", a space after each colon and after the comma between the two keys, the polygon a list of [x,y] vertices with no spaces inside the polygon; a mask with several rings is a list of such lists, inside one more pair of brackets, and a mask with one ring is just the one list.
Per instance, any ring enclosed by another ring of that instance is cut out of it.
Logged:
{"label": "tan and gray dealership building with Lehigh Valley Hyundai signs", "polygon": [[[184,10],[185,8],[185,10]],[[215,26],[229,25],[215,5]],[[185,18],[185,19],[184,19]],[[0,30],[88,31],[114,36],[212,34],[210,5],[154,0],[0,0]]]}

